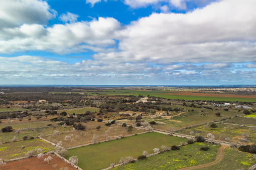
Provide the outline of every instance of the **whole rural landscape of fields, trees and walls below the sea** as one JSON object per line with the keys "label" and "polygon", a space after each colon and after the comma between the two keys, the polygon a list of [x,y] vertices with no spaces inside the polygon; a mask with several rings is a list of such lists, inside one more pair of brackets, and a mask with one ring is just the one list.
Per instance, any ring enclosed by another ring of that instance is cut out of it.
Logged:
{"label": "whole rural landscape of fields, trees and walls below the sea", "polygon": [[252,169],[256,161],[255,87],[0,93],[0,169]]}

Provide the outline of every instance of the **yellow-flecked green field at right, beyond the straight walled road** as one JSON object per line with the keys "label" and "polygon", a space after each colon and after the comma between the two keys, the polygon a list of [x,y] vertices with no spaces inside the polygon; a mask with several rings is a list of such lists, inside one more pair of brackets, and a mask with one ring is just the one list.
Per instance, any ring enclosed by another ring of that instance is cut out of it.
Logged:
{"label": "yellow-flecked green field at right, beyond the straight walled road", "polygon": [[[204,124],[196,127],[182,129],[177,132],[182,134],[190,134],[190,135],[202,135],[205,137],[210,132],[215,136],[214,139],[224,140],[226,137],[229,137],[230,140],[234,142],[240,142],[241,137],[244,138],[245,136],[248,136],[247,139],[251,143],[256,142],[256,128],[229,125],[229,124],[219,124],[219,123],[216,123],[216,124],[218,125],[217,128],[212,128]],[[193,131],[192,134],[191,134],[191,131]],[[248,144],[248,142],[244,142],[244,144]]]}

